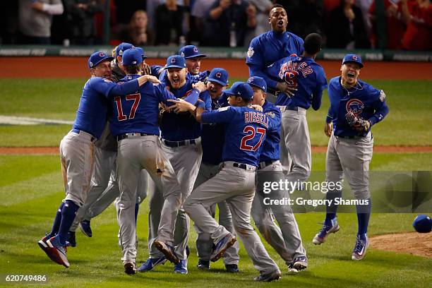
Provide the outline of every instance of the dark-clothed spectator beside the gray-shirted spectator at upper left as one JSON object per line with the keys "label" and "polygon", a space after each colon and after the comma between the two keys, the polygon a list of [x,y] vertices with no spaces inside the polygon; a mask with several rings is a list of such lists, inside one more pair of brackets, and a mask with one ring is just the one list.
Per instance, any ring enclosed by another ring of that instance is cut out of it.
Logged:
{"label": "dark-clothed spectator beside the gray-shirted spectator at upper left", "polygon": [[91,45],[95,37],[96,12],[103,11],[101,0],[64,0],[71,44]]}

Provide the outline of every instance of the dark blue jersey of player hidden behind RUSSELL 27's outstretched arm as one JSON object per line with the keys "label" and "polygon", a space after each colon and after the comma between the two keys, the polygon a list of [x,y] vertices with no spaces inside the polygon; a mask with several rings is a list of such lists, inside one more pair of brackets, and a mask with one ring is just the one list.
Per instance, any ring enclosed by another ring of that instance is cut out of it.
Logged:
{"label": "dark blue jersey of player hidden behind RUSSELL 27's outstretched arm", "polygon": [[[228,106],[228,95],[222,95],[212,101],[212,111]],[[203,124],[201,131],[201,145],[203,146],[203,162],[217,165],[222,162],[222,148],[224,146],[225,124]]]}

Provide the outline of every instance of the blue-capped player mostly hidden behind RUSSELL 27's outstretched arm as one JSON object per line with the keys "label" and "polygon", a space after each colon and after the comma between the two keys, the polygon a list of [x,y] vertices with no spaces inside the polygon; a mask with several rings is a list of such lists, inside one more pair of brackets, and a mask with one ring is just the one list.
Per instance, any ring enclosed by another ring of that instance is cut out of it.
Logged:
{"label": "blue-capped player mostly hidden behind RUSSELL 27's outstretched arm", "polygon": [[[187,64],[186,64],[187,65]],[[212,110],[228,106],[228,95],[223,92],[228,85],[228,72],[223,68],[213,68],[207,78],[207,88],[212,100]],[[201,145],[203,147],[203,160],[195,181],[194,188],[200,186],[208,179],[215,176],[222,169],[222,148],[224,145],[224,125],[203,124]],[[226,201],[217,203],[219,207],[219,223],[230,233],[234,234],[232,215]],[[210,206],[210,215],[215,217],[216,204]],[[210,256],[213,241],[211,235],[205,233],[196,224],[198,234],[196,239],[196,251],[198,253],[198,269],[210,269]],[[236,242],[224,253],[224,264],[228,272],[239,272],[239,243]]]}

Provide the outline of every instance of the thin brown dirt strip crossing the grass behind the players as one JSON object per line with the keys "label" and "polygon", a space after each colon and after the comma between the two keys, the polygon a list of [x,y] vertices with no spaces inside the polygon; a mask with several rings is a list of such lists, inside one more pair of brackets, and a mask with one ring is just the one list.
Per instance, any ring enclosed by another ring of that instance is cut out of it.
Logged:
{"label": "thin brown dirt strip crossing the grass behind the players", "polygon": [[[324,153],[326,146],[312,146],[312,152]],[[432,146],[376,146],[378,153],[416,153],[432,152]],[[58,147],[0,147],[1,154],[59,154]]]}

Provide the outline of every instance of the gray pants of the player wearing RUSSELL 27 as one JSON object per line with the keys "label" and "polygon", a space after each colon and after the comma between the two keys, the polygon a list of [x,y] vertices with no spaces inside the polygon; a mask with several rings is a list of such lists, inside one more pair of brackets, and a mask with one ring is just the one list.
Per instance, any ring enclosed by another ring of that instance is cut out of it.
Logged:
{"label": "gray pants of the player wearing RUSSELL 27", "polygon": [[217,244],[229,231],[218,224],[208,213],[211,205],[227,200],[232,212],[234,228],[244,244],[254,267],[261,273],[279,270],[270,258],[260,237],[251,225],[251,205],[255,191],[255,169],[233,167],[234,162],[224,162],[222,170],[212,179],[198,186],[184,203],[184,209],[204,232],[211,234]]}

